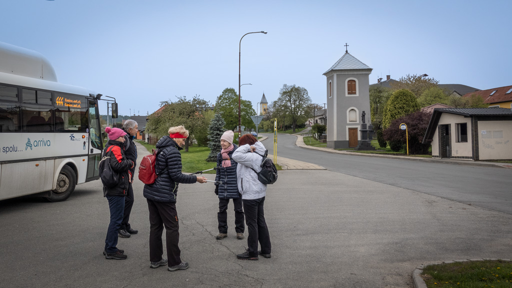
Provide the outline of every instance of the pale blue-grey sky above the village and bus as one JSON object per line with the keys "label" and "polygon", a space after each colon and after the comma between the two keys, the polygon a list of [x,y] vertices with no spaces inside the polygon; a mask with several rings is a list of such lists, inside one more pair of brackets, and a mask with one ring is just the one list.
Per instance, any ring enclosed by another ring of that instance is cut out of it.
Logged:
{"label": "pale blue-grey sky above the village and bus", "polygon": [[[512,1],[2,0],[0,41],[37,51],[60,83],[115,97],[120,114],[176,96],[254,109],[283,84],[326,102],[322,75],[348,51],[377,78],[428,74],[481,90],[512,85]],[[1,60],[1,59],[0,59]],[[106,105],[100,103],[100,113]]]}

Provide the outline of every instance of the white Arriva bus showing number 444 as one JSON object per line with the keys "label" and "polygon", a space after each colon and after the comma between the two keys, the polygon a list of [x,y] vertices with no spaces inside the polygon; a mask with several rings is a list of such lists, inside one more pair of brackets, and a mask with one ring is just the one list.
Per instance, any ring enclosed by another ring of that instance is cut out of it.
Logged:
{"label": "white Arriva bus showing number 444", "polygon": [[41,54],[0,42],[0,200],[63,201],[99,178],[100,95],[58,83]]}

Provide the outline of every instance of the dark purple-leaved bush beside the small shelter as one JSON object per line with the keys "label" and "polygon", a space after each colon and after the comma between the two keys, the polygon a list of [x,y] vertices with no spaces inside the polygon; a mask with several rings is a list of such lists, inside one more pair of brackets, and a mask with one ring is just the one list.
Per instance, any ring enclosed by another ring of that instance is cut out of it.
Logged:
{"label": "dark purple-leaved bush beside the small shelter", "polygon": [[400,151],[407,144],[406,131],[400,129],[400,124],[407,125],[409,135],[409,154],[427,154],[430,144],[423,144],[423,136],[429,127],[431,114],[422,111],[399,117],[391,121],[391,126],[383,131],[384,138],[390,142],[393,151]]}

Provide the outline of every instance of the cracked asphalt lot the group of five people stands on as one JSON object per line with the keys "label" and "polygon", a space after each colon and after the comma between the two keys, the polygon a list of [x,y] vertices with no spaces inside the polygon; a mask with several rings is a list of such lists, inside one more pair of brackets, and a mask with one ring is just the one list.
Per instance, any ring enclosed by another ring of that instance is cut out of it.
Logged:
{"label": "cracked asphalt lot the group of five people stands on", "polygon": [[80,184],[65,202],[0,201],[0,286],[405,288],[421,264],[509,259],[512,247],[510,214],[338,172],[289,170],[267,191],[272,258],[259,261],[236,259],[246,240],[236,239],[232,204],[228,238],[215,239],[211,183],[180,185],[180,248],[190,268],[168,272],[148,267],[147,204],[142,184],[134,187],[139,234],[119,239],[129,255],[122,261],[102,255],[109,208],[100,181]]}

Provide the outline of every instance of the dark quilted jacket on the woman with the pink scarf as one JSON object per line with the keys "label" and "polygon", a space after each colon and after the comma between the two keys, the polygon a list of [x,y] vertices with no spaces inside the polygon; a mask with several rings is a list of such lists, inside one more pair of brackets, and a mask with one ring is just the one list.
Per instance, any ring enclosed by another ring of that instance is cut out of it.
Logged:
{"label": "dark quilted jacket on the woman with the pink scarf", "polygon": [[238,191],[237,184],[238,164],[231,157],[238,146],[236,144],[233,144],[233,146],[233,150],[227,153],[231,161],[231,167],[222,167],[222,161],[224,160],[222,159],[222,153],[219,152],[219,154],[217,154],[217,173],[215,175],[215,181],[222,182],[218,185],[219,198],[221,199],[238,199],[242,196]]}

